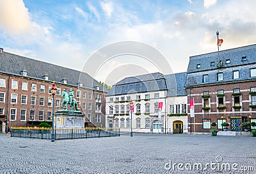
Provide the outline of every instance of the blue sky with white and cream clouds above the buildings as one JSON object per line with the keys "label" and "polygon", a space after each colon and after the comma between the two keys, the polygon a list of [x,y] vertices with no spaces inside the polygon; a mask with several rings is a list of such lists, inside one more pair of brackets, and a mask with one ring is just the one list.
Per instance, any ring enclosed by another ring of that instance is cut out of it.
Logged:
{"label": "blue sky with white and cream clouds above the buildings", "polygon": [[[186,72],[189,56],[218,51],[216,31],[223,38],[220,51],[255,44],[255,6],[254,0],[0,0],[0,47],[87,72],[88,60],[100,59],[95,52],[132,41],[163,55],[170,74]],[[112,85],[127,76],[162,72],[157,59],[150,59],[122,54],[87,73]]]}

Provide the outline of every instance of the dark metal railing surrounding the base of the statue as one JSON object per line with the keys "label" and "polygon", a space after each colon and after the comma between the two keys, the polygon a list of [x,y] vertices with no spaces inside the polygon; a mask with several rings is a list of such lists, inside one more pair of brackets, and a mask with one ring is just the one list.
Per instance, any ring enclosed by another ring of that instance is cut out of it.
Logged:
{"label": "dark metal railing surrounding the base of the statue", "polygon": [[[51,128],[12,127],[12,136],[20,138],[51,139]],[[120,136],[119,128],[100,129],[99,127],[54,129],[54,139],[79,139]]]}

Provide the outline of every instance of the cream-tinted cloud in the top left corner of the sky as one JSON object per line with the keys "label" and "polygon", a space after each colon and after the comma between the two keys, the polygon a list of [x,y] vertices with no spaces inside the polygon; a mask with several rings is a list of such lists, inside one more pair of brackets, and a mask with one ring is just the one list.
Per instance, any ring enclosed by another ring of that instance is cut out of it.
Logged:
{"label": "cream-tinted cloud in the top left corner of the sky", "polygon": [[28,31],[30,25],[28,8],[22,0],[1,1],[0,26],[4,31],[18,34]]}

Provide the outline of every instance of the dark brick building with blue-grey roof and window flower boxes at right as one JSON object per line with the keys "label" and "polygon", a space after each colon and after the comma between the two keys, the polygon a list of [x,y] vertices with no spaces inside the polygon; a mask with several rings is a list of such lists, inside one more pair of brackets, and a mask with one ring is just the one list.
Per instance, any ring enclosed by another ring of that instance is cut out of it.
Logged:
{"label": "dark brick building with blue-grey roof and window flower boxes at right", "polygon": [[194,99],[195,106],[189,131],[221,131],[222,122],[242,131],[241,123],[256,122],[256,45],[191,56],[187,74],[188,103]]}

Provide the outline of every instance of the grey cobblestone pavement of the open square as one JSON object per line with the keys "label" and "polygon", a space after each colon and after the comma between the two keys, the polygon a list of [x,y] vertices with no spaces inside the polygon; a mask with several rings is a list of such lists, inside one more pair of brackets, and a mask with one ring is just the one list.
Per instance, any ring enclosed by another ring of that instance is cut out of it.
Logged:
{"label": "grey cobblestone pavement of the open square", "polygon": [[127,134],[53,143],[0,134],[0,173],[256,173],[255,142],[251,136]]}

